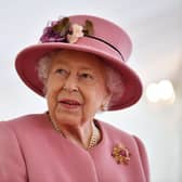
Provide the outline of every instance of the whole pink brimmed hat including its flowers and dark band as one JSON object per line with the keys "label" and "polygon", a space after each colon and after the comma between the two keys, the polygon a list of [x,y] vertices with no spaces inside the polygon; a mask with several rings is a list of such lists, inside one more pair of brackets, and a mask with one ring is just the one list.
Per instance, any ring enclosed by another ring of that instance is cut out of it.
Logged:
{"label": "whole pink brimmed hat including its flowers and dark band", "polygon": [[43,96],[43,83],[37,72],[38,61],[43,55],[57,49],[96,54],[121,76],[125,90],[120,91],[119,99],[112,96],[108,107],[108,110],[116,110],[133,105],[142,94],[140,78],[126,64],[131,47],[129,36],[112,22],[90,15],[74,15],[46,27],[39,43],[17,54],[15,66],[26,86]]}

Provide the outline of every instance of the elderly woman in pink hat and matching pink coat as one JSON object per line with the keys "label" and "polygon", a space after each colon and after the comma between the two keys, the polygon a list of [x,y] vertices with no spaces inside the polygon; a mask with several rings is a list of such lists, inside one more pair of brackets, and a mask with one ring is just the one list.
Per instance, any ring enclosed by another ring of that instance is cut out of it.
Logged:
{"label": "elderly woman in pink hat and matching pink coat", "polygon": [[141,140],[94,118],[140,99],[130,52],[120,27],[86,15],[52,22],[20,52],[16,70],[48,112],[0,122],[0,181],[148,182]]}

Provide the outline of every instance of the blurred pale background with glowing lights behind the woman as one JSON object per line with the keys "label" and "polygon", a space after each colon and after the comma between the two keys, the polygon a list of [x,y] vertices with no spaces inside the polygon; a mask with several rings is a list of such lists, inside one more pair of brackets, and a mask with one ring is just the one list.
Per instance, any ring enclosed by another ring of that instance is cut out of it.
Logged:
{"label": "blurred pale background with glowing lights behind the woman", "polygon": [[38,42],[48,21],[92,14],[130,35],[129,65],[144,84],[134,106],[96,117],[141,138],[152,182],[182,181],[182,0],[0,1],[0,120],[43,113],[46,102],[20,80],[14,58]]}

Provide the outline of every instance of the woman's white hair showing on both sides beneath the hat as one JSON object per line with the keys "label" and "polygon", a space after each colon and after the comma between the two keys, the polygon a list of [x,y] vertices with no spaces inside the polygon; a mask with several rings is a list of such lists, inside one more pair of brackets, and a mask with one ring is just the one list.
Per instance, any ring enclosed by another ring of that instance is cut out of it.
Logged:
{"label": "woman's white hair showing on both sides beneath the hat", "polygon": [[[49,76],[49,69],[51,66],[51,62],[53,56],[55,56],[55,54],[57,54],[61,50],[55,50],[52,51],[48,54],[46,54],[44,56],[42,56],[40,58],[40,61],[38,62],[38,77],[40,79],[40,81],[43,82],[44,88],[46,88],[46,83],[47,83],[47,79]],[[117,70],[115,70],[113,67],[110,67],[109,64],[104,64],[104,68],[106,72],[106,87],[110,93],[110,100],[112,102],[117,102],[123,93],[123,81],[121,76],[117,73]],[[46,90],[44,90],[46,91]],[[108,105],[106,106],[105,110],[107,110],[108,107],[112,107],[112,103],[109,102]]]}

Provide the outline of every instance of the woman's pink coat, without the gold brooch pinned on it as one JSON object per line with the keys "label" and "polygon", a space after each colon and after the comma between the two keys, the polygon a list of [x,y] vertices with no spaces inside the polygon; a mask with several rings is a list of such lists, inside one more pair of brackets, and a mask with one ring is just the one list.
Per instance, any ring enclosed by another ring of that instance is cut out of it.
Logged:
{"label": "woman's pink coat, without the gold brooch pinned on it", "polygon": [[[0,182],[148,182],[142,142],[98,121],[102,141],[86,151],[55,131],[47,114],[0,122]],[[112,156],[116,144],[131,153],[128,165]]]}

